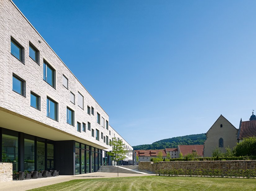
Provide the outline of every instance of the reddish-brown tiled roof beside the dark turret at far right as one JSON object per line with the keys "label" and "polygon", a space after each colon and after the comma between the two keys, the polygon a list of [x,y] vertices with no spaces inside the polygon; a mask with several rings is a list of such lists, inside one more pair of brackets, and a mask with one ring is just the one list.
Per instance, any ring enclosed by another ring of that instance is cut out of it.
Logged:
{"label": "reddish-brown tiled roof beside the dark turret at far right", "polygon": [[256,120],[253,121],[242,121],[239,129],[239,138],[243,139],[246,137],[256,136]]}

